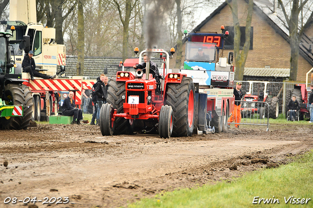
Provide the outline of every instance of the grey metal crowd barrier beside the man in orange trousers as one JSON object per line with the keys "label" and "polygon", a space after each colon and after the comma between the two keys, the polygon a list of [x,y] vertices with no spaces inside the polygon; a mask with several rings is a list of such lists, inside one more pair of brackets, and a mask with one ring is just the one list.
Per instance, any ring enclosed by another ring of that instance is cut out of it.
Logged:
{"label": "grey metal crowd barrier beside the man in orange trousers", "polygon": [[[231,112],[228,122],[236,125],[264,125],[267,126],[269,118],[269,105],[266,102],[235,101],[240,102],[239,109]],[[239,115],[240,113],[240,115]]]}

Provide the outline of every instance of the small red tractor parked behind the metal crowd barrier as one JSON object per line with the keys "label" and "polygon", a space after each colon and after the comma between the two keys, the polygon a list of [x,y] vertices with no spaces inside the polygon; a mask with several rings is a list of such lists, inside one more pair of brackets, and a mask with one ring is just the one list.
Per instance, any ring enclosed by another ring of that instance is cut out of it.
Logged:
{"label": "small red tractor parked behind the metal crowd barrier", "polygon": [[[260,92],[260,87],[257,87],[257,91],[254,92],[255,84],[264,84],[264,91]],[[244,96],[244,101],[241,104],[241,114],[242,117],[249,117],[254,113],[259,113],[261,118],[267,116],[267,112],[269,110],[269,118],[276,119],[279,113],[279,101],[277,97],[268,97],[267,93],[267,85],[269,82],[261,82],[261,81],[249,81],[249,91],[246,92]],[[268,103],[268,107],[262,103],[254,103],[254,102],[266,102]]]}

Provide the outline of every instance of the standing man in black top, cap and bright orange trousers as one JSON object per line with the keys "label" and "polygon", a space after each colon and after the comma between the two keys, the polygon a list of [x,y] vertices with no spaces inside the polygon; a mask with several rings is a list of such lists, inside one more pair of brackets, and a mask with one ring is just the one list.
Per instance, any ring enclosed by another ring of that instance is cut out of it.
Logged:
{"label": "standing man in black top, cap and bright orange trousers", "polygon": [[[240,112],[240,107],[241,107],[241,99],[243,97],[243,92],[241,91],[241,86],[243,85],[242,82],[237,82],[236,87],[234,87],[234,96],[235,96],[235,104],[234,104],[234,110],[231,112],[230,117],[227,121],[229,126],[229,123],[240,123],[241,121],[241,112]],[[239,124],[235,124],[236,128],[239,128]]]}

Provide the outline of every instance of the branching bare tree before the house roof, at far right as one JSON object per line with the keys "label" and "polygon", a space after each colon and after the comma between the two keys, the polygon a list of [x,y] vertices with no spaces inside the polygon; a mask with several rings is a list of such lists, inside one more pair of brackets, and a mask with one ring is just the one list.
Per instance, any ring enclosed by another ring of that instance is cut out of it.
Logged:
{"label": "branching bare tree before the house roof, at far right", "polygon": [[[284,13],[285,19],[288,24],[291,57],[290,57],[290,80],[295,81],[298,73],[298,59],[299,59],[299,44],[303,32],[312,24],[313,12],[309,14],[307,21],[304,23],[304,17],[302,16],[303,7],[308,3],[308,0],[292,0],[284,4],[282,0],[278,0],[279,5]],[[312,3],[312,2],[311,2]],[[291,4],[291,5],[290,5]],[[291,6],[290,16],[287,14],[286,6]],[[302,17],[301,17],[302,16]],[[300,24],[300,25],[299,25]]]}

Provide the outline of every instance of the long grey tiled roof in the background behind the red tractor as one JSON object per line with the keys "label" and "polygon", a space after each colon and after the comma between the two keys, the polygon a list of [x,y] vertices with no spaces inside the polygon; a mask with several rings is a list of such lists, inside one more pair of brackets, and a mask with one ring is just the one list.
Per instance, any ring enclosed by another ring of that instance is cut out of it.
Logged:
{"label": "long grey tiled roof in the background behind the red tractor", "polygon": [[[84,77],[89,79],[96,79],[100,74],[105,73],[108,77],[113,77],[119,69],[119,62],[122,61],[122,57],[85,57],[84,60]],[[152,58],[153,62],[156,62],[158,69],[161,67],[161,59]],[[66,59],[66,77],[72,77],[77,75],[77,56],[67,56]],[[125,69],[128,71],[129,69]],[[133,68],[131,70],[134,70]]]}

